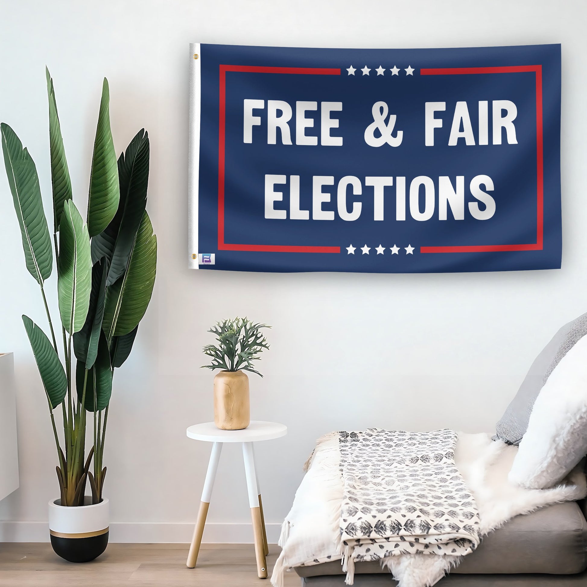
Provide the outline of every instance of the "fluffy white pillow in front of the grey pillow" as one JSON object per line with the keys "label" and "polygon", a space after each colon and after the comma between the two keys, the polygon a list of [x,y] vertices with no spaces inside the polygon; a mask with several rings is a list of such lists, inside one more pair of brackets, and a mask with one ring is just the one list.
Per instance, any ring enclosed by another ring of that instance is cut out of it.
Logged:
{"label": "fluffy white pillow in front of the grey pillow", "polygon": [[587,336],[562,358],[538,394],[508,479],[552,487],[587,454]]}

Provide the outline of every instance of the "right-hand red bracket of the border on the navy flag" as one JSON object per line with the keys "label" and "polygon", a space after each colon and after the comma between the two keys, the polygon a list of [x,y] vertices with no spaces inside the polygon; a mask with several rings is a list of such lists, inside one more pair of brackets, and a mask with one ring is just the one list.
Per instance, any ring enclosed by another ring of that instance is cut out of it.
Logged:
{"label": "right-hand red bracket of the border on the navy flag", "polygon": [[420,247],[421,253],[473,253],[498,251],[542,251],[544,238],[544,160],[542,157],[542,65],[513,65],[498,68],[420,69],[420,75],[468,75],[475,73],[522,73],[536,75],[536,162],[537,218],[536,242],[525,245],[470,245],[464,247]]}

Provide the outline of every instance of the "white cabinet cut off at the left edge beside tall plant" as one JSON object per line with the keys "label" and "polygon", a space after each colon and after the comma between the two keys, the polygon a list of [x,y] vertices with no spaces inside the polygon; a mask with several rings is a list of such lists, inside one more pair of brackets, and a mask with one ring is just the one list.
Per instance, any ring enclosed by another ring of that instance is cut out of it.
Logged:
{"label": "white cabinet cut off at the left edge beside tall plant", "polygon": [[0,353],[0,500],[18,488],[14,357]]}

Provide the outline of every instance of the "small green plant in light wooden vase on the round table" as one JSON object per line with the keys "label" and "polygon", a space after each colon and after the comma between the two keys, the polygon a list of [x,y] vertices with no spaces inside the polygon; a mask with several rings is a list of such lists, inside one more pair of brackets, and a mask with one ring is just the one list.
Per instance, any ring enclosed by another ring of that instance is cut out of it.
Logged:
{"label": "small green plant in light wooden vase on the round table", "polygon": [[205,369],[221,369],[214,377],[214,423],[221,430],[242,430],[251,422],[249,378],[245,371],[253,369],[253,361],[261,358],[269,345],[262,328],[248,318],[233,318],[217,322],[208,332],[214,334],[216,345],[204,346],[204,355],[211,357]]}

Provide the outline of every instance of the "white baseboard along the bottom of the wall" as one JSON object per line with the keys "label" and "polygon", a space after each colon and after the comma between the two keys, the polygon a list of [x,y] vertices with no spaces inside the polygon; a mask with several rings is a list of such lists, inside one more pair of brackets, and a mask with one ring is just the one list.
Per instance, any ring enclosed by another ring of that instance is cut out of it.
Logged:
{"label": "white baseboard along the bottom of the wall", "polygon": [[[110,542],[191,541],[195,522],[113,522]],[[281,524],[266,524],[267,541],[276,544]],[[202,542],[212,544],[248,544],[253,541],[251,524],[206,524]],[[0,521],[0,542],[49,542],[48,522]]]}

